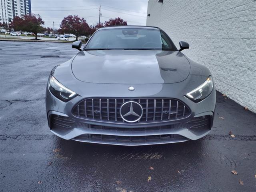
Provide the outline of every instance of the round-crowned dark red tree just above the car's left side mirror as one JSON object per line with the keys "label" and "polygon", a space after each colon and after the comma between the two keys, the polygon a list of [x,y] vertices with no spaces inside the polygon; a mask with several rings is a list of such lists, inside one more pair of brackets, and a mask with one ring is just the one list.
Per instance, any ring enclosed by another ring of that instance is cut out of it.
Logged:
{"label": "round-crowned dark red tree just above the car's left side mirror", "polygon": [[64,17],[60,24],[59,32],[61,33],[72,33],[76,35],[76,41],[78,40],[78,36],[85,35],[88,36],[90,34],[89,25],[86,23],[84,18],[80,18],[77,15],[69,15]]}

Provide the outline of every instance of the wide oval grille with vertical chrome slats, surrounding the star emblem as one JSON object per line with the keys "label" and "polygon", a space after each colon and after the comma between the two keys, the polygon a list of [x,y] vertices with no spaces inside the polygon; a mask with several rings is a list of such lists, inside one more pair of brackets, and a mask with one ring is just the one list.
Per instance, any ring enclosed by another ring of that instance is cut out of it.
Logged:
{"label": "wide oval grille with vertical chrome slats, surrounding the star emblem", "polygon": [[181,101],[166,98],[88,98],[73,108],[74,116],[108,122],[124,122],[120,116],[123,103],[134,101],[143,108],[136,123],[176,120],[190,115],[190,109]]}

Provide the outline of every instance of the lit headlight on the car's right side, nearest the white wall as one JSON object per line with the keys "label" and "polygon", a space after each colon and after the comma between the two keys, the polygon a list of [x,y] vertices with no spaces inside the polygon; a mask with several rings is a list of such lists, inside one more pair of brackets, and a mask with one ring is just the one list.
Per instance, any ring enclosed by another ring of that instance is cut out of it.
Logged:
{"label": "lit headlight on the car's right side, nearest the white wall", "polygon": [[201,84],[198,88],[195,88],[191,92],[186,94],[186,97],[191,99],[194,102],[200,102],[206,98],[213,89],[212,76],[209,76],[206,81]]}

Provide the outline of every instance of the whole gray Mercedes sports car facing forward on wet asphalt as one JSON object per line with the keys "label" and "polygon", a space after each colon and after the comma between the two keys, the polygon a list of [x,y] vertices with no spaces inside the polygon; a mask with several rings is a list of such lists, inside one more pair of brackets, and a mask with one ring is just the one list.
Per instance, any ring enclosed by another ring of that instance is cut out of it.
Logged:
{"label": "whole gray Mercedes sports car facing forward on wet asphalt", "polygon": [[52,69],[51,132],[66,140],[148,145],[197,140],[212,128],[216,92],[208,68],[181,53],[160,28],[98,29]]}

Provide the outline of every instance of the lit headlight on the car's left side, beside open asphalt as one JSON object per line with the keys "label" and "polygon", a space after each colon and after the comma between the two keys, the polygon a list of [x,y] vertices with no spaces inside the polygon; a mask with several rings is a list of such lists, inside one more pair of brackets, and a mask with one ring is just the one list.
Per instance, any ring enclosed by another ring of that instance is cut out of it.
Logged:
{"label": "lit headlight on the car's left side, beside open asphalt", "polygon": [[49,90],[50,92],[56,96],[58,99],[67,102],[68,100],[74,98],[75,96],[77,96],[77,94],[66,88],[64,85],[60,84],[60,82],[58,82],[54,76],[50,76],[50,80],[49,80]]}

